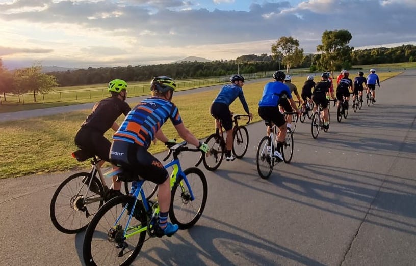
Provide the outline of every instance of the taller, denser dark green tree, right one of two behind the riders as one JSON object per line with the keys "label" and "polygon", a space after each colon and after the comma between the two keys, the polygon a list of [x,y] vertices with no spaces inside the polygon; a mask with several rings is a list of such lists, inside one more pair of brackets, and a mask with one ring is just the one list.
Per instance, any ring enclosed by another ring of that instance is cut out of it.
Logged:
{"label": "taller, denser dark green tree, right one of two behind the riders", "polygon": [[319,61],[322,70],[341,70],[351,67],[351,52],[354,47],[348,46],[352,35],[346,29],[325,31],[322,34],[322,44],[317,46],[318,52],[323,52]]}

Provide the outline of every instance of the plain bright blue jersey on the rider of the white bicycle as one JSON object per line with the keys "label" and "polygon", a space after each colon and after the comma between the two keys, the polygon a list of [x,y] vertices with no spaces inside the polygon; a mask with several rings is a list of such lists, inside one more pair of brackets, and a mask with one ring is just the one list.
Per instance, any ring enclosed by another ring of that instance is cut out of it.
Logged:
{"label": "plain bright blue jersey on the rider of the white bicycle", "polygon": [[262,99],[258,102],[258,106],[277,107],[279,99],[283,96],[292,99],[290,88],[278,81],[269,82],[264,86]]}

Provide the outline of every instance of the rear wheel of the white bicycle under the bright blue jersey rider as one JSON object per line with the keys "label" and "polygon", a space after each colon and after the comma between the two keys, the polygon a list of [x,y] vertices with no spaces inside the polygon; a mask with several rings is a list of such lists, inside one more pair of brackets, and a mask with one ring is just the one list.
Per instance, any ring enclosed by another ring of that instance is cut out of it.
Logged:
{"label": "rear wheel of the white bicycle under the bright blue jersey rider", "polygon": [[[270,147],[271,152],[267,151],[267,146]],[[256,153],[256,166],[258,175],[262,179],[268,179],[270,174],[273,171],[274,167],[274,157],[273,154],[273,145],[271,143],[270,137],[264,136],[260,142],[258,142],[257,153]]]}

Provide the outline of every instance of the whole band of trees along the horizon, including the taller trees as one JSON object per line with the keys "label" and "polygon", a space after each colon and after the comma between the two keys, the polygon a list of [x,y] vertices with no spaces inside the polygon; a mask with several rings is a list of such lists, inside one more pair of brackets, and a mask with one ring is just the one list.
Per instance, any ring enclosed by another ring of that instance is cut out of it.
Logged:
{"label": "whole band of trees along the horizon, including the taller trees", "polygon": [[[9,71],[0,58],[0,93],[6,101],[6,93],[22,95],[47,92],[56,86],[75,86],[107,83],[119,78],[126,81],[151,80],[154,76],[167,75],[174,79],[230,76],[239,73],[257,73],[285,68],[309,68],[310,72],[350,69],[352,65],[401,63],[416,61],[416,46],[402,45],[393,48],[354,50],[349,46],[352,35],[346,29],[325,31],[322,44],[316,54],[304,55],[299,41],[292,36],[282,36],[271,46],[271,54],[248,54],[236,60],[212,62],[181,62],[147,66],[101,67],[41,73],[39,65]],[[1,104],[0,97],[0,104]]]}

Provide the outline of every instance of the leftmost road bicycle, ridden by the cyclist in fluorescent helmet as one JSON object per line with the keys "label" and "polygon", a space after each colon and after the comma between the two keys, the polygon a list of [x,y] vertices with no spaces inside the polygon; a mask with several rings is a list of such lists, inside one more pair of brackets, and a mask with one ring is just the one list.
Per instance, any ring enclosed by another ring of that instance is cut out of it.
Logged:
{"label": "leftmost road bicycle, ridden by the cyclist in fluorescent helmet", "polygon": [[90,172],[70,175],[52,196],[49,207],[50,219],[59,231],[68,234],[78,233],[87,228],[91,218],[104,203],[104,197],[109,190],[104,179],[105,174],[100,167],[101,159],[82,147],[73,152],[72,157],[79,162],[91,158],[92,167]]}

